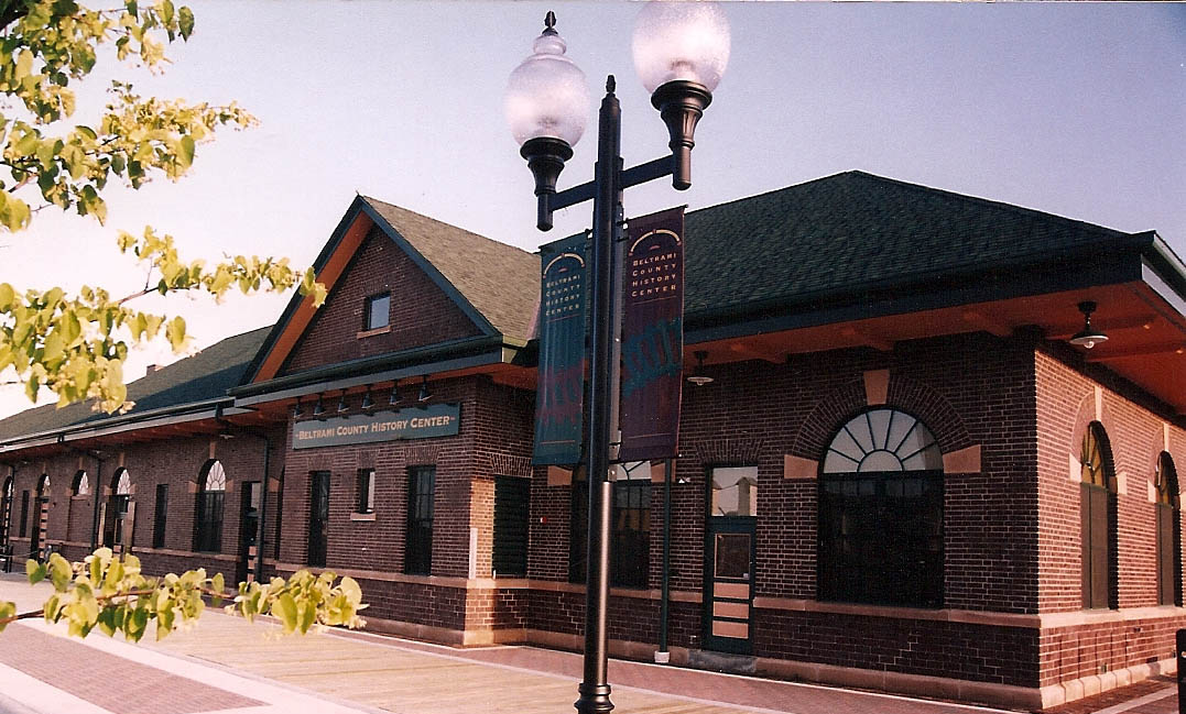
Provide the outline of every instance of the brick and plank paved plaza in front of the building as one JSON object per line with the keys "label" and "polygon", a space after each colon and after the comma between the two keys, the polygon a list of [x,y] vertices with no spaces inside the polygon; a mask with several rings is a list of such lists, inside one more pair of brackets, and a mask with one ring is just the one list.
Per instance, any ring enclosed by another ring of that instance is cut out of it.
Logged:
{"label": "brick and plank paved plaza in front of the building", "polygon": [[[0,578],[28,610],[49,588]],[[40,598],[40,599],[39,599]],[[149,636],[152,638],[152,630]],[[85,641],[25,620],[0,633],[0,712],[14,714],[453,714],[573,712],[581,658],[531,647],[454,649],[366,633],[282,636],[209,611],[164,642]],[[991,714],[970,707],[655,664],[612,661],[616,712],[638,714]],[[1064,714],[1169,714],[1167,682],[1147,682]]]}

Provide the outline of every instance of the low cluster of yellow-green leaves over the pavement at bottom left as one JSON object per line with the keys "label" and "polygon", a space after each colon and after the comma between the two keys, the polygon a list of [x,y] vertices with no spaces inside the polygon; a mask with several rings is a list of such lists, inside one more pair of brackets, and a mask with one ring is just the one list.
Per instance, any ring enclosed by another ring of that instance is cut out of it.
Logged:
{"label": "low cluster of yellow-green leaves over the pavement at bottom left", "polygon": [[98,628],[108,637],[122,632],[129,642],[139,642],[154,622],[160,641],[196,620],[209,598],[216,606],[231,600],[228,613],[248,620],[270,615],[286,633],[304,635],[314,625],[361,628],[358,612],[366,607],[358,584],[349,577],[338,580],[332,572],[298,571],[287,580],[241,583],[231,593],[224,591],[222,573],[208,578],[199,568],[149,578],[140,572],[139,558],[119,558],[110,548],[98,548],[75,564],[53,553],[44,564],[28,560],[25,571],[30,584],[49,579],[53,594],[32,612],[18,613],[15,603],[0,602],[0,632],[18,619],[44,617],[47,623],[65,622],[71,636],[87,637]]}

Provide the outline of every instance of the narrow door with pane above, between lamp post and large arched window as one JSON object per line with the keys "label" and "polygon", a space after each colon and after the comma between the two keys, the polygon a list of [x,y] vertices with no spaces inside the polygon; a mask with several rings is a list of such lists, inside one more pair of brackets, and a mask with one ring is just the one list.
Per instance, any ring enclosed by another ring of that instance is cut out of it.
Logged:
{"label": "narrow door with pane above, between lamp post and large arched window", "polygon": [[704,648],[753,652],[758,468],[710,469],[704,528]]}

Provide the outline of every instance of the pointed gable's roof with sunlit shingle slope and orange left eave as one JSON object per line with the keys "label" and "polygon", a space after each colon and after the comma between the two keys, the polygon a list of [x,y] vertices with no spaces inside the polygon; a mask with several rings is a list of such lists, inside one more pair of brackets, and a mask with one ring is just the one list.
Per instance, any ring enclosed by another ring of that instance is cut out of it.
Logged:
{"label": "pointed gable's roof with sunlit shingle slope and orange left eave", "polygon": [[[313,263],[326,289],[333,290],[372,227],[403,250],[484,335],[518,346],[530,339],[538,256],[364,195],[355,198]],[[312,298],[294,295],[242,384],[276,378],[314,313]]]}

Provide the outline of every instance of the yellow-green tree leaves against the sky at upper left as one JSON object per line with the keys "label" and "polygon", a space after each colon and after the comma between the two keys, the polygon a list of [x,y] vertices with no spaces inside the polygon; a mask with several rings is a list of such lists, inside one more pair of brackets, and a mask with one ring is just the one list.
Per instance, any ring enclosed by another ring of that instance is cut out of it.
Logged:
{"label": "yellow-green tree leaves against the sky at upper left", "polygon": [[[189,172],[197,146],[218,127],[243,129],[255,118],[242,108],[142,97],[113,81],[101,116],[74,123],[72,84],[85,79],[103,51],[159,71],[165,45],[186,40],[195,18],[171,0],[128,0],[114,9],[90,9],[74,0],[0,0],[0,232],[27,229],[34,214],[56,206],[107,219],[103,191],[116,182],[140,188],[153,179]],[[104,47],[109,47],[104,50]],[[145,262],[145,290],[113,298],[84,287],[21,290],[0,283],[0,371],[12,368],[30,399],[44,387],[58,405],[95,399],[111,412],[126,409],[122,366],[128,343],[164,334],[174,350],[186,345],[185,321],[142,313],[128,300],[148,292],[200,290],[219,298],[232,288],[283,291],[294,285],[325,300],[312,269],[287,259],[234,256],[215,265],[185,262],[170,236],[146,227],[120,232],[119,247]]]}

